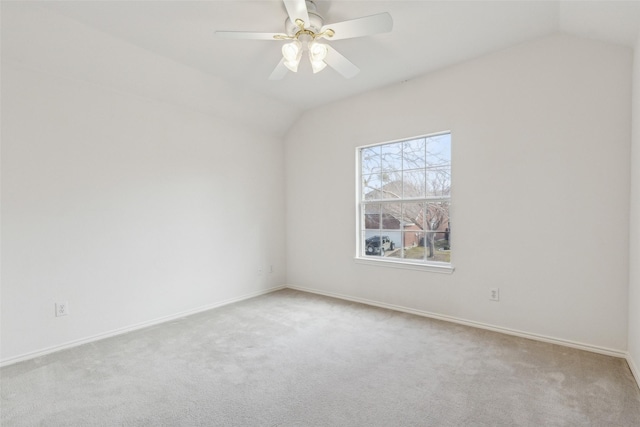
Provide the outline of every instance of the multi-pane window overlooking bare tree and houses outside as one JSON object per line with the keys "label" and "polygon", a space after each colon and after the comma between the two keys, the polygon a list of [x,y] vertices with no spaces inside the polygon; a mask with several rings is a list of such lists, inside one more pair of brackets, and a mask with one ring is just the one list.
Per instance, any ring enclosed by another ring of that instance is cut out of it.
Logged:
{"label": "multi-pane window overlooking bare tree and houses outside", "polygon": [[451,263],[451,133],[360,147],[358,255]]}

